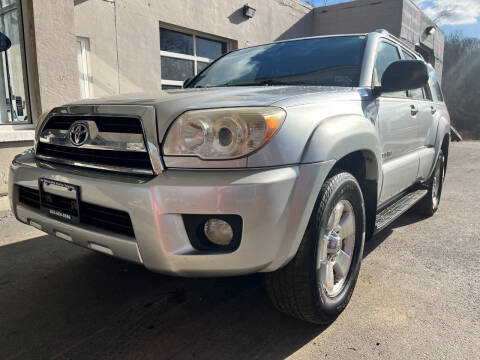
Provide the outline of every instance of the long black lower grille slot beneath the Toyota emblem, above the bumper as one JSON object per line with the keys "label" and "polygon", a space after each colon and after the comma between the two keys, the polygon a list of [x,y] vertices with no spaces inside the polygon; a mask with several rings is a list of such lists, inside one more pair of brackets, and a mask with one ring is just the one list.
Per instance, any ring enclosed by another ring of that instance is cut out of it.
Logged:
{"label": "long black lower grille slot beneath the Toyota emblem, above the bumper", "polygon": [[147,152],[84,149],[81,147],[59,146],[39,142],[37,145],[37,155],[92,165],[107,165],[146,171],[152,170]]}

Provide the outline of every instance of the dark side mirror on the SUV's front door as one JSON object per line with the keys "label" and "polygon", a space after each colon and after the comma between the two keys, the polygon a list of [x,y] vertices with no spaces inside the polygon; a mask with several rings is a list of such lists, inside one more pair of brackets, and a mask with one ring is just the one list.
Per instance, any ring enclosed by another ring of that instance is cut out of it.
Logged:
{"label": "dark side mirror on the SUV's front door", "polygon": [[382,86],[375,93],[420,89],[428,83],[427,65],[421,60],[399,60],[391,63],[382,76]]}

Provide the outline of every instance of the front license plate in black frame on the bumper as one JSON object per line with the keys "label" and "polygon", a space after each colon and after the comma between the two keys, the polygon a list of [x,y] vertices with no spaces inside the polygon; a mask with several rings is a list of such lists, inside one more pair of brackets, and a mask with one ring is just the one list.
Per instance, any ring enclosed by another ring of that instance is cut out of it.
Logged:
{"label": "front license plate in black frame on the bumper", "polygon": [[80,222],[80,187],[50,179],[39,179],[40,210],[50,217],[74,224]]}

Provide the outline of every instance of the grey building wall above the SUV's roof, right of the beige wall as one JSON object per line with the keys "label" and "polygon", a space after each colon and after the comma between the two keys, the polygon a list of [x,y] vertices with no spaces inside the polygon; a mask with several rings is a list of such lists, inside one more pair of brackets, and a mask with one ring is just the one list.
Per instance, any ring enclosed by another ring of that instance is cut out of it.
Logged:
{"label": "grey building wall above the SUV's roof, right of the beige wall", "polygon": [[314,10],[314,34],[355,34],[386,29],[400,35],[403,0],[357,0]]}

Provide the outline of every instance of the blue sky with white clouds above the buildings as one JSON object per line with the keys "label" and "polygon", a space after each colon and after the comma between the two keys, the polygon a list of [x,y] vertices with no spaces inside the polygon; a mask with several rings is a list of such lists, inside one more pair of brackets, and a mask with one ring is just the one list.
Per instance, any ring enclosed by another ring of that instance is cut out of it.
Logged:
{"label": "blue sky with white clouds above the buildings", "polygon": [[[327,0],[328,5],[352,0]],[[310,2],[310,1],[308,1]],[[413,0],[446,34],[462,31],[466,36],[480,38],[480,0]],[[323,6],[325,0],[313,0]]]}

